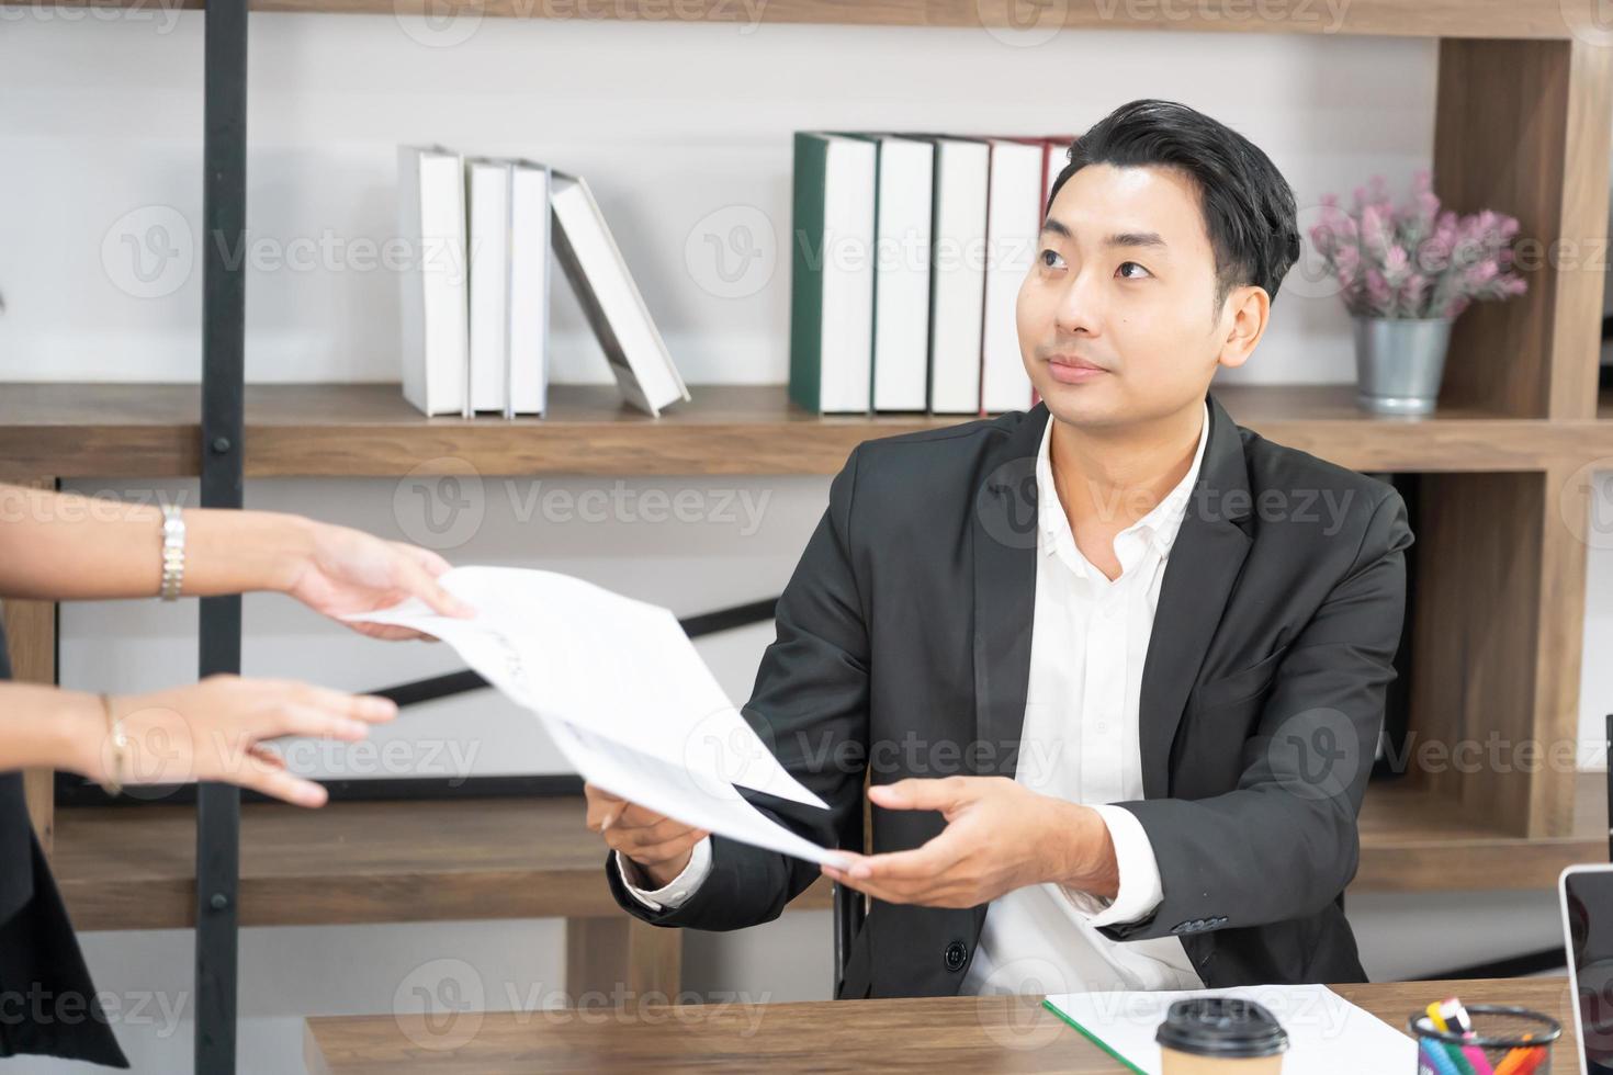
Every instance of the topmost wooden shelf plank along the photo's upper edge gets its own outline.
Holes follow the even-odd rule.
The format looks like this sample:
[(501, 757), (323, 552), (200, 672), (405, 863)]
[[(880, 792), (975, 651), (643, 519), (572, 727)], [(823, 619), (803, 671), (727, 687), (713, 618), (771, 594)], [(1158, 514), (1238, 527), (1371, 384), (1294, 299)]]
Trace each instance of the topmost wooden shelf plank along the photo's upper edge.
[[(3, 0), (37, 3), (37, 0)], [(135, 0), (90, 0), (94, 6), (135, 6)], [(1574, 24), (1595, 31), (1592, 0), (1323, 0), (1289, 3), (1165, 3), (1163, 0), (1115, 0), (1115, 3), (1055, 5), (1066, 31), (1189, 31), (1216, 34), (1366, 34), (1382, 37), (1511, 37), (1566, 39)], [(87, 6), (66, 0), (58, 6)], [(203, 0), (177, 0), (174, 6), (198, 10)], [(458, 0), (465, 18), (542, 18), (682, 21), (723, 24), (829, 24), (829, 26), (937, 26), (965, 29), (1052, 29), (1052, 16), (1026, 27), (1016, 0)], [(1584, 8), (1584, 11), (1581, 11)], [(253, 11), (423, 15), (447, 18), (448, 6), (432, 0), (252, 0)]]

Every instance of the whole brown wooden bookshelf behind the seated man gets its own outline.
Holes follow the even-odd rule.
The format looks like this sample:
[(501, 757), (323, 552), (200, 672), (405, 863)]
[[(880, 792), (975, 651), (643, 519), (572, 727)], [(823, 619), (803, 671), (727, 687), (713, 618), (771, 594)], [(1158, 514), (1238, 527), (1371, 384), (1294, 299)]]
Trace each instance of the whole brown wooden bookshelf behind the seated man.
[[(11, 2), (34, 0), (0, 0)], [(395, 18), (424, 5), (256, 0), (253, 8)], [(1074, 31), (1437, 39), (1439, 193), (1463, 213), (1516, 216), (1521, 237), (1555, 250), (1563, 240), (1600, 242), (1608, 234), (1613, 48), (1597, 31), (1594, 5), (1353, 0), (1337, 24), (1316, 5), (1279, 8), (1290, 13), (1284, 18), (1263, 18), (1242, 3), (1142, 0), (1118, 3), (1108, 18), (1103, 5), (1058, 8)], [(466, 10), (534, 18), (582, 11), (545, 0), (487, 0)], [(694, 0), (677, 5), (676, 18), (736, 23), (748, 11), (732, 0)], [(1024, 26), (1024, 15), (1016, 0), (769, 0), (760, 8), (761, 21), (777, 24), (977, 31)], [(587, 16), (666, 21), (674, 8), (619, 0), (587, 8)], [(1576, 737), (1586, 542), (1582, 521), (1568, 517), (1563, 504), (1587, 464), (1613, 458), (1613, 395), (1597, 392), (1603, 276), (1548, 263), (1531, 271), (1524, 297), (1465, 313), (1452, 334), (1440, 409), (1428, 419), (1361, 414), (1347, 385), (1219, 390), (1236, 421), (1274, 442), (1355, 469), (1424, 475), (1410, 625), (1411, 730), (1424, 740), (1500, 733), (1550, 746)], [(505, 422), (421, 417), (397, 385), (253, 387), (245, 395), (245, 474), (832, 474), (861, 440), (961, 421), (818, 417), (792, 409), (779, 387), (697, 387), (694, 395), (652, 421), (623, 409), (610, 388), (556, 388), (547, 419)], [(198, 406), (194, 385), (0, 387), (0, 479), (194, 475), (205, 450)], [(6, 609), (8, 622), (21, 614), (13, 646), (32, 654), (19, 662), (19, 679), (53, 679), (45, 659), (55, 646), (50, 612)], [(1547, 886), (1568, 862), (1607, 857), (1597, 782), (1563, 769), (1515, 767), (1419, 772), (1374, 788), (1357, 888)], [(45, 788), (48, 778), (31, 783), (31, 806), (40, 832), (55, 833), (56, 869), (82, 928), (194, 919), (189, 811), (65, 809), (53, 822)], [(634, 932), (606, 906), (598, 843), (584, 841), (581, 822), (566, 817), (576, 817), (574, 804), (340, 804), (319, 814), (248, 807), (242, 922), (552, 914), (573, 924), (571, 956), (581, 959), (594, 946), (626, 953), (640, 982), (668, 967), (676, 977), (665, 938)], [(606, 920), (618, 925), (592, 932), (590, 924)], [(615, 928), (627, 933), (610, 933)]]

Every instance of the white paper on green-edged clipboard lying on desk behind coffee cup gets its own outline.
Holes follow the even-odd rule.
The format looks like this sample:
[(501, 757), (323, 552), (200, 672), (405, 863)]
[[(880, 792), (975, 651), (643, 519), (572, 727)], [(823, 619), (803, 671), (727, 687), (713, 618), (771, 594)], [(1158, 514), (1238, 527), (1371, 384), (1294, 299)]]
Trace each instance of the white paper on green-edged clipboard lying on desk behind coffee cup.
[(1324, 985), (1255, 985), (1182, 993), (1063, 993), (1047, 1002), (1132, 1070), (1160, 1075), (1153, 1035), (1173, 1001), (1236, 996), (1257, 1001), (1289, 1033), (1284, 1072), (1361, 1075), (1415, 1072), (1416, 1043)]

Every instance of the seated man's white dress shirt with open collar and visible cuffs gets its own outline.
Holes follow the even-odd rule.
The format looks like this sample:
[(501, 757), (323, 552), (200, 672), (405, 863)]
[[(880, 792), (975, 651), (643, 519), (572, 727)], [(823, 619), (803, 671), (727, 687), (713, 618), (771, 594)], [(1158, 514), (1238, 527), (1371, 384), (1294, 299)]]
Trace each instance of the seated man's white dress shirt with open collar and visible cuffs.
[[(1084, 993), (1203, 986), (1177, 936), (1111, 941), (1098, 927), (1136, 922), (1163, 899), (1160, 869), (1142, 824), (1110, 803), (1142, 798), (1137, 712), (1142, 664), (1165, 562), (1203, 464), (1210, 406), (1182, 480), (1142, 519), (1115, 535), (1121, 574), (1111, 582), (1076, 545), (1053, 485), (1052, 416), (1036, 461), (1037, 553), (1031, 674), (1015, 780), (1040, 795), (1087, 803), (1115, 841), (1113, 901), (1057, 883), (1016, 888), (992, 901), (960, 993)], [(711, 870), (711, 840), (665, 888), (626, 888), (652, 909), (684, 903)]]

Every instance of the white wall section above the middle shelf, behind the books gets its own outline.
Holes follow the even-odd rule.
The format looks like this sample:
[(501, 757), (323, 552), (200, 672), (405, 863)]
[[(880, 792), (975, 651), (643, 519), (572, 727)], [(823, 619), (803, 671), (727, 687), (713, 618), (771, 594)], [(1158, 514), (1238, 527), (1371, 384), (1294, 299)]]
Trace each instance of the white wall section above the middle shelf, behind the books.
[[(0, 193), (31, 210), (0, 221), (0, 379), (197, 377), (198, 259), (142, 282), (127, 243), (155, 272), (153, 250), (200, 235), (202, 18), (145, 15), (0, 15)], [(353, 243), (394, 229), (395, 145), (444, 142), (589, 176), (686, 379), (766, 384), (786, 372), (787, 263), (752, 263), (760, 290), (719, 298), (705, 237), (787, 234), (797, 127), (1055, 134), (1136, 97), (1181, 98), (1265, 147), (1313, 206), (1428, 160), (1434, 45), (487, 21), (429, 48), (390, 18), (256, 15), (250, 77), (248, 264), (331, 248), (315, 256), (327, 268), (252, 272), (252, 380), (397, 379), (397, 288)], [(560, 379), (602, 379), (558, 301)], [(1336, 301), (1277, 303), (1247, 376), (1348, 380), (1344, 329)]]

